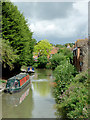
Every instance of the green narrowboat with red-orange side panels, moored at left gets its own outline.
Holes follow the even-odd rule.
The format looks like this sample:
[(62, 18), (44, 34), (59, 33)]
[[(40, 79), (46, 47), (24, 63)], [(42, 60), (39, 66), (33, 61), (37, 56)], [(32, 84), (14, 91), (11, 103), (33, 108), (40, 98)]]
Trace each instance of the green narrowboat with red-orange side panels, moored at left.
[(4, 92), (14, 93), (19, 92), (21, 89), (30, 84), (30, 77), (28, 73), (20, 73), (7, 80)]

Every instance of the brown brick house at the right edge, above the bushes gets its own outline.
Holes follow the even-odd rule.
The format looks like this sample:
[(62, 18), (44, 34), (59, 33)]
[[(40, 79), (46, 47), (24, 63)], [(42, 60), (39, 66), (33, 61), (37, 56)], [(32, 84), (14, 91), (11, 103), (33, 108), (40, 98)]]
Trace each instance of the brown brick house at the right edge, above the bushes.
[(88, 39), (78, 39), (73, 49), (73, 64), (77, 70), (85, 71), (88, 69)]

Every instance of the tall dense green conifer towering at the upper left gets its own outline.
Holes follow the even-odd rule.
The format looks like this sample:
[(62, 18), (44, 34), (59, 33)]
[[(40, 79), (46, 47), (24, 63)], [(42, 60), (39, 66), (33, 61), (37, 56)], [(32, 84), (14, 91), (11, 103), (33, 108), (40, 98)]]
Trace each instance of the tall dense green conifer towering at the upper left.
[(32, 64), (35, 39), (32, 39), (25, 17), (11, 2), (2, 3), (2, 37), (9, 41), (13, 50), (17, 50), (18, 64)]

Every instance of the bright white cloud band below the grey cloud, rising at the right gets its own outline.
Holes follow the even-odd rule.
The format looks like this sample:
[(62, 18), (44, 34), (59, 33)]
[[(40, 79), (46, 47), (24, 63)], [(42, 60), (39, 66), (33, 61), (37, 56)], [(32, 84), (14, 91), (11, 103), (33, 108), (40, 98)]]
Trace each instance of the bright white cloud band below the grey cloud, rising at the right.
[[(37, 36), (56, 36), (67, 38), (87, 35), (88, 28), (88, 3), (73, 3), (72, 11), (69, 11), (67, 18), (54, 20), (35, 20), (31, 22), (30, 28)], [(83, 35), (82, 35), (83, 34)]]

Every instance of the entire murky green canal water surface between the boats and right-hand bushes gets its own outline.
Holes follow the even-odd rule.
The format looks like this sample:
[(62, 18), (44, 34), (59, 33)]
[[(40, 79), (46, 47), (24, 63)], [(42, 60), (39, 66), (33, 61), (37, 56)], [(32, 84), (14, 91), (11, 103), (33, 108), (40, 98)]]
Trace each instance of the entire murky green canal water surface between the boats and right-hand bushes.
[(15, 94), (3, 93), (3, 118), (56, 118), (52, 71), (38, 69), (30, 77), (31, 87)]

